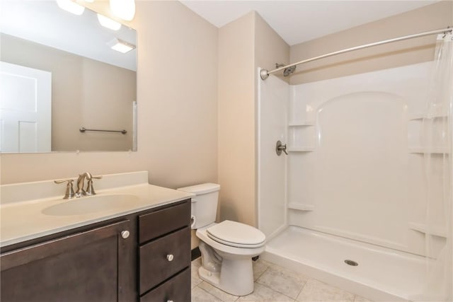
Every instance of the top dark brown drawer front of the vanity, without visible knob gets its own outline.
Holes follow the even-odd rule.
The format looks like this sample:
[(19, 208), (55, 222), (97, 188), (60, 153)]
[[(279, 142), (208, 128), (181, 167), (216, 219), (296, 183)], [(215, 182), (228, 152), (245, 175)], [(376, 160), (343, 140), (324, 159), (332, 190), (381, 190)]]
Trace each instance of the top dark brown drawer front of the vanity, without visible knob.
[(139, 216), (139, 242), (144, 243), (190, 225), (190, 199), (183, 204)]

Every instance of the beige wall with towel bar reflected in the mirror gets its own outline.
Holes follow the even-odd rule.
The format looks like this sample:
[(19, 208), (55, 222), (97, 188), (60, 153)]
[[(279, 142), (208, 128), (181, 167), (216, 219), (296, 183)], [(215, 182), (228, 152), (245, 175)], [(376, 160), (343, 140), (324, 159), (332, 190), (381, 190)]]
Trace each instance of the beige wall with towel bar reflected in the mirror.
[[(0, 60), (52, 73), (52, 151), (132, 149), (136, 73), (11, 35), (0, 35)], [(79, 132), (127, 129), (127, 134)]]

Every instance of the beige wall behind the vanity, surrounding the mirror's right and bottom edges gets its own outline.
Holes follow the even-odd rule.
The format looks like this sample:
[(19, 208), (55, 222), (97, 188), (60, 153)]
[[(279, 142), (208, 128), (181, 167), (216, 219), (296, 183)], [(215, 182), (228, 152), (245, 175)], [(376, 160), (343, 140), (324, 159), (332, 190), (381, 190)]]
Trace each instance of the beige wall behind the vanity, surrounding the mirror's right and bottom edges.
[(138, 151), (1, 154), (1, 183), (134, 170), (166, 187), (217, 182), (217, 28), (177, 1), (137, 1), (131, 25)]

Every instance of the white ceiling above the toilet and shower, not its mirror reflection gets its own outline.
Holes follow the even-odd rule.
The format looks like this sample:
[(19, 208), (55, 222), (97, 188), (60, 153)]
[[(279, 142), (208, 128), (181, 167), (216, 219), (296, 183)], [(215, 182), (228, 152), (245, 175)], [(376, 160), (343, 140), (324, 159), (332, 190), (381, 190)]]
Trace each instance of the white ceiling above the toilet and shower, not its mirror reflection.
[(180, 1), (217, 26), (257, 11), (287, 42), (295, 45), (357, 25), (411, 11), (437, 1)]

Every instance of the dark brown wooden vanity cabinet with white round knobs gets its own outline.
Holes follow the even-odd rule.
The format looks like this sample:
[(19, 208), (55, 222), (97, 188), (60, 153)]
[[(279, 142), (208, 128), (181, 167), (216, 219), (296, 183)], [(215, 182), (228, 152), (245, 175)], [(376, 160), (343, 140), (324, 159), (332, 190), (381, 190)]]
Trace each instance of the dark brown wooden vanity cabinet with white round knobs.
[(1, 249), (0, 301), (190, 301), (190, 199)]

